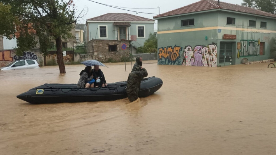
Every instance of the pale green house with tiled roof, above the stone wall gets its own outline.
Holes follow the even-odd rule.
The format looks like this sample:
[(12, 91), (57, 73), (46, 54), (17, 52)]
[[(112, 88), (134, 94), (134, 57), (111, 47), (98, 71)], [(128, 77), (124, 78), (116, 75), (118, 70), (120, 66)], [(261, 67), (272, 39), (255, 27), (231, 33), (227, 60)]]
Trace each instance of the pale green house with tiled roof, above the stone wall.
[(87, 42), (92, 39), (132, 40), (133, 47), (144, 45), (153, 33), (155, 20), (125, 13), (108, 13), (87, 19)]

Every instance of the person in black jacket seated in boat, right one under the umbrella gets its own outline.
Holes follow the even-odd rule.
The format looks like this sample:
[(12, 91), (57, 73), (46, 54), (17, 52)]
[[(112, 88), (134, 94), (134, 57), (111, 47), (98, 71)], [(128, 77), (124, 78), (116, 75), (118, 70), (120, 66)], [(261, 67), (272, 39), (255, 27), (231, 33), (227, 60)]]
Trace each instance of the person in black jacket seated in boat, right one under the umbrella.
[(94, 76), (94, 86), (95, 87), (105, 87), (107, 83), (105, 81), (105, 77), (103, 75), (102, 70), (100, 70), (99, 65), (94, 65), (94, 69), (92, 70), (92, 74)]

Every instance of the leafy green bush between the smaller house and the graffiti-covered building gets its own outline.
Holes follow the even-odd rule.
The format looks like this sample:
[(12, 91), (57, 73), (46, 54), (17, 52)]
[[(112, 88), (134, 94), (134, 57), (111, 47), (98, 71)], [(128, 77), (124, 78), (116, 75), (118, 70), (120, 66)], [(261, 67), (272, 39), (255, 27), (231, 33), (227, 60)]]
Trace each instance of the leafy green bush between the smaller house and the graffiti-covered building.
[(148, 39), (144, 42), (144, 46), (137, 48), (137, 53), (156, 53), (157, 52), (157, 37), (150, 33)]

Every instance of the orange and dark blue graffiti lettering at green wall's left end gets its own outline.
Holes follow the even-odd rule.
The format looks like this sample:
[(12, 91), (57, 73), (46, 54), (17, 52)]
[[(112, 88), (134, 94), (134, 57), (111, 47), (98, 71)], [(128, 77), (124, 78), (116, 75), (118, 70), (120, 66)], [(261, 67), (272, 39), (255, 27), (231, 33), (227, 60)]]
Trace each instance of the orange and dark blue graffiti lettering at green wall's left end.
[(180, 46), (168, 46), (158, 49), (158, 64), (160, 65), (181, 65), (180, 52), (182, 47)]

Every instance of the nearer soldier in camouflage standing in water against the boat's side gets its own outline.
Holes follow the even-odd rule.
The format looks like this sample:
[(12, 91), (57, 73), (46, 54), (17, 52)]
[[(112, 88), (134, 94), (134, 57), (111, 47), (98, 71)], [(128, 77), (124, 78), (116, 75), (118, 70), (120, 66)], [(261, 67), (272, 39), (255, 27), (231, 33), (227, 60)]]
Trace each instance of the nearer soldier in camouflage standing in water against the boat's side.
[(135, 70), (128, 75), (128, 87), (126, 93), (128, 94), (129, 101), (137, 100), (140, 90), (141, 79), (148, 76), (145, 68), (137, 65)]

